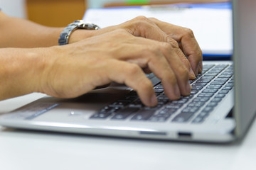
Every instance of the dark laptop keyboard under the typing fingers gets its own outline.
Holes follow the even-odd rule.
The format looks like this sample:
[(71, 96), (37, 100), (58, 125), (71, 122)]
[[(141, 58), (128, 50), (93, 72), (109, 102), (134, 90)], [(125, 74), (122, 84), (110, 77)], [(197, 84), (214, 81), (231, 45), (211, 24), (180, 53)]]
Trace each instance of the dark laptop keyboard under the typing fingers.
[(178, 101), (170, 101), (164, 88), (154, 74), (146, 75), (154, 84), (158, 105), (144, 106), (136, 91), (119, 98), (90, 119), (130, 120), (174, 123), (203, 123), (215, 106), (233, 89), (233, 65), (207, 64), (196, 79), (190, 80), (190, 96), (182, 96)]

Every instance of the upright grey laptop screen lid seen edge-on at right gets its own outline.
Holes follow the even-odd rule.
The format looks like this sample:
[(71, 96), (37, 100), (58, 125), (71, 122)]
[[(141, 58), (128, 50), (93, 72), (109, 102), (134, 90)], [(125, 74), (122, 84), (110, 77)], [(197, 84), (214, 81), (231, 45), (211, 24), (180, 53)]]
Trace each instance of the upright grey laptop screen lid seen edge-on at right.
[(236, 134), (242, 136), (256, 111), (256, 1), (234, 0)]

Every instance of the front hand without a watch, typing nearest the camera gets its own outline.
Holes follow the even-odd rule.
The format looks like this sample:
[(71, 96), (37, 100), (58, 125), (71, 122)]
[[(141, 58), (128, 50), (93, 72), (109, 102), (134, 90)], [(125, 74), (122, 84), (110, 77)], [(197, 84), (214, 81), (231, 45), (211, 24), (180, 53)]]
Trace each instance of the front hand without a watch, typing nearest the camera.
[(50, 96), (73, 98), (115, 81), (137, 91), (146, 106), (155, 106), (154, 89), (143, 69), (161, 79), (171, 100), (191, 91), (189, 72), (177, 55), (176, 46), (164, 40), (136, 37), (125, 29), (50, 47), (45, 54), (46, 67), (39, 86)]

